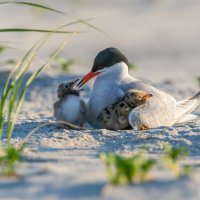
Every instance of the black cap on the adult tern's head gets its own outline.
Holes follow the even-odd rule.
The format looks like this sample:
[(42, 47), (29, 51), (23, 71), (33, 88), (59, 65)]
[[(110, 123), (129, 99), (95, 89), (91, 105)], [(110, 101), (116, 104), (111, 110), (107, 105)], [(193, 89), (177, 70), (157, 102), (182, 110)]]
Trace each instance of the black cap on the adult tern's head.
[(116, 63), (124, 62), (128, 65), (128, 59), (119, 49), (110, 47), (99, 52), (94, 59), (92, 72), (96, 72), (105, 67), (110, 67)]

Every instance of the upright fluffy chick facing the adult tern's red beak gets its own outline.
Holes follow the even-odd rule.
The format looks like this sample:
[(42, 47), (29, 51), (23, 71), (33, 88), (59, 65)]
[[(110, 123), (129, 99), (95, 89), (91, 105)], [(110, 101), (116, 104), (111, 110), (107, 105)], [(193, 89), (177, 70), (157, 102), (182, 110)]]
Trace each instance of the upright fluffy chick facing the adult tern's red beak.
[(75, 81), (61, 83), (58, 86), (58, 101), (54, 103), (54, 116), (58, 121), (66, 121), (83, 126), (86, 120), (86, 105), (80, 98), (82, 89), (76, 89)]

